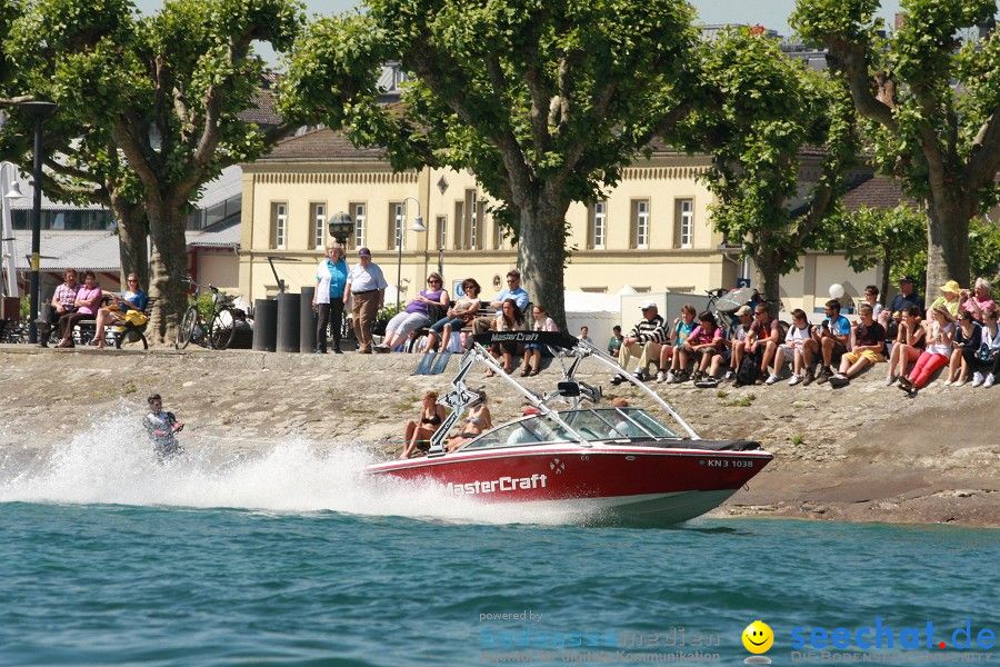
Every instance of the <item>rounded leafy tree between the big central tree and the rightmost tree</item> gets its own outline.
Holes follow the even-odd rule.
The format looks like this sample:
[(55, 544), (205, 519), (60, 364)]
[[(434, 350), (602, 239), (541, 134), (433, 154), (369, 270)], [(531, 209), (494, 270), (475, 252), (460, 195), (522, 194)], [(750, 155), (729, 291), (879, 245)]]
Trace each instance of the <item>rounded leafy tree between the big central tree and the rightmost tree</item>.
[[(711, 152), (706, 180), (718, 198), (714, 227), (742, 242), (761, 291), (777, 299), (780, 276), (814, 247), (827, 215), (838, 210), (857, 153), (850, 99), (824, 74), (786, 58), (777, 40), (747, 28), (706, 42), (701, 62), (701, 103), (677, 140)], [(821, 176), (811, 186), (802, 178), (807, 147), (822, 149)], [(796, 206), (803, 193), (808, 205)]]

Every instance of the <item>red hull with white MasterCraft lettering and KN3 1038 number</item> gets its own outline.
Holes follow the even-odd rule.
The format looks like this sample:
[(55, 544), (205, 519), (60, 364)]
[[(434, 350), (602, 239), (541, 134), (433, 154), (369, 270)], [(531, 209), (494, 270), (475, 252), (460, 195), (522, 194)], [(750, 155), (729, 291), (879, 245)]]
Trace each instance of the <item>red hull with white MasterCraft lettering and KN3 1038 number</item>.
[(553, 445), (368, 468), (446, 496), (557, 509), (574, 522), (670, 525), (718, 507), (771, 460), (761, 450)]

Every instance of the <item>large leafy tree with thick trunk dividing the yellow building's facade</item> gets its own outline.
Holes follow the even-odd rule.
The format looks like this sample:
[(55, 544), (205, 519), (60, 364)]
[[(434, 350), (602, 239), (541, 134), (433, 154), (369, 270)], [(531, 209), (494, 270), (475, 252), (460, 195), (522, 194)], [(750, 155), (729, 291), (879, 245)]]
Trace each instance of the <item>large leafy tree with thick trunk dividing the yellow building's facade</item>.
[[(688, 109), (694, 32), (679, 0), (370, 0), (294, 50), (283, 112), (386, 146), (397, 169), (470, 169), (501, 202), (536, 302), (563, 320), (566, 212)], [(414, 81), (376, 102), (377, 64)], [(344, 99), (347, 101), (344, 101)]]

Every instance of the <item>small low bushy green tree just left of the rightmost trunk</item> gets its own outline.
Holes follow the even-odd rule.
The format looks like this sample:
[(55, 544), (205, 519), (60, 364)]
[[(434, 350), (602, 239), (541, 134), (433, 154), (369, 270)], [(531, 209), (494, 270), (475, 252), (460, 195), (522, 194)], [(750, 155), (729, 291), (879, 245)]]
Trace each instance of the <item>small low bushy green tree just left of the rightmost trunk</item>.
[[(882, 266), (882, 295), (889, 293), (890, 278), (913, 276), (912, 259), (927, 261), (927, 215), (901, 203), (893, 209), (862, 207), (834, 216), (826, 227), (822, 247), (843, 250), (854, 271)], [(922, 278), (926, 265), (919, 267)]]

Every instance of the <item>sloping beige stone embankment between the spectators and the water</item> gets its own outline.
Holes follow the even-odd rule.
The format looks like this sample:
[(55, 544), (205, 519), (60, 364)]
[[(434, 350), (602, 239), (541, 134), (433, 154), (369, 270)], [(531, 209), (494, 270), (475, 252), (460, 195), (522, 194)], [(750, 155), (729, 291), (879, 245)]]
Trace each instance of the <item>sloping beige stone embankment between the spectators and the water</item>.
[[(418, 360), (0, 345), (0, 454), (43, 457), (72, 435), (53, 414), (80, 405), (114, 411), (123, 402), (140, 411), (153, 392), (198, 432), (236, 450), (292, 436), (319, 446), (398, 441), (420, 395), (447, 390), (458, 368), (456, 356), (444, 375), (412, 376)], [(579, 377), (603, 385), (606, 399), (641, 405), (638, 389), (612, 387), (596, 364), (586, 366)], [(496, 422), (520, 412), (521, 398), (506, 382), (473, 374), (470, 385), (487, 388)], [(557, 377), (558, 366), (524, 384), (548, 390)], [(909, 399), (884, 386), (884, 366), (841, 389), (651, 386), (703, 437), (756, 439), (776, 455), (716, 516), (1000, 527), (1000, 388), (934, 381)], [(380, 446), (387, 458), (401, 447)]]

